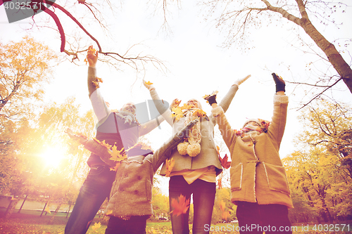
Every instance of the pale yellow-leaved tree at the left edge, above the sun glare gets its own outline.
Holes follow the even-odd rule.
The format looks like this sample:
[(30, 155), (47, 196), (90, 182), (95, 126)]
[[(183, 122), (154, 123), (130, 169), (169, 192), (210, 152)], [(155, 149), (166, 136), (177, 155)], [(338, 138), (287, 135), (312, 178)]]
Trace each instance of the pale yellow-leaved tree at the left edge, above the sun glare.
[[(30, 117), (32, 103), (42, 100), (43, 84), (50, 82), (57, 56), (30, 37), (0, 42), (0, 121)], [(2, 126), (1, 126), (2, 127)]]

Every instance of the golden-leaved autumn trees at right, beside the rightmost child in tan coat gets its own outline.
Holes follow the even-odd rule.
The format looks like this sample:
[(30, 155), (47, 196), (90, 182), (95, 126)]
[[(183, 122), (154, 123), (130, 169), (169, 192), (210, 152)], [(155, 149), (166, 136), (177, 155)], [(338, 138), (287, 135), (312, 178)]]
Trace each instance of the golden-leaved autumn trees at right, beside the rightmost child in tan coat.
[[(351, 219), (351, 107), (320, 100), (301, 113), (298, 150), (283, 159), (295, 208), (292, 219)], [(303, 214), (303, 215), (299, 215)]]

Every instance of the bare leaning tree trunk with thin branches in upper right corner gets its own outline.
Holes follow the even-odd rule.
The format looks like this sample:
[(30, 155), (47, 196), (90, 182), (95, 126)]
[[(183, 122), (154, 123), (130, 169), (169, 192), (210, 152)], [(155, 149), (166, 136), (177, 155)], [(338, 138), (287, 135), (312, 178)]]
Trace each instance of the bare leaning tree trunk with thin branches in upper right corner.
[[(175, 1), (163, 0), (159, 2), (163, 2), (164, 19), (167, 21), (167, 6), (175, 4)], [(180, 5), (181, 1), (176, 2), (177, 5)], [(262, 25), (284, 25), (284, 22), (288, 20), (292, 25), (290, 32), (297, 32), (297, 38), (303, 41), (303, 46), (308, 46), (309, 53), (313, 51), (319, 58), (327, 62), (324, 64), (326, 68), (318, 69), (318, 72), (321, 72), (318, 77), (313, 79), (309, 77), (312, 82), (293, 81), (292, 83), (317, 89), (318, 91), (313, 93), (311, 100), (321, 96), (322, 93), (331, 89), (340, 81), (343, 81), (352, 93), (352, 70), (350, 63), (342, 56), (344, 51), (337, 50), (338, 41), (328, 41), (326, 39), (327, 35), (324, 36), (317, 30), (319, 24), (323, 26), (329, 23), (337, 25), (334, 20), (334, 13), (338, 11), (346, 13), (345, 9), (348, 7), (348, 1), (201, 0), (198, 4), (201, 6), (202, 14), (205, 15), (205, 20), (213, 20), (215, 22), (213, 25), (225, 35), (224, 46), (227, 48), (234, 44), (246, 46), (249, 41), (252, 41), (249, 35), (251, 35), (253, 29), (258, 29)], [(164, 25), (167, 25), (167, 23), (164, 22)], [(304, 31), (303, 34), (299, 33), (300, 29)], [(277, 35), (279, 35), (279, 30)], [(306, 38), (306, 36), (309, 38)], [(347, 38), (345, 41), (343, 44), (349, 44), (352, 39)], [(310, 44), (314, 44), (314, 46)], [(300, 45), (299, 48), (301, 49), (303, 46)], [(315, 46), (318, 46), (318, 51), (322, 53), (316, 52)], [(348, 56), (349, 52), (347, 51), (346, 54)], [(331, 66), (334, 67), (334, 71), (331, 71), (332, 74), (327, 74)]]

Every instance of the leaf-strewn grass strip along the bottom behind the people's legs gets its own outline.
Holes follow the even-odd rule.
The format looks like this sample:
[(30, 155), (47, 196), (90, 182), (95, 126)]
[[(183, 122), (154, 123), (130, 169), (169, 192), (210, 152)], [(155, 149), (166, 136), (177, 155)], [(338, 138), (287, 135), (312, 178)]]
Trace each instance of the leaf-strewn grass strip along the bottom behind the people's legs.
[[(0, 233), (1, 234), (60, 234), (64, 233), (65, 224), (68, 221), (66, 219), (66, 214), (58, 213), (54, 219), (52, 224), (49, 224), (50, 219), (52, 218), (52, 214), (46, 214), (40, 217), (42, 212), (36, 211), (26, 211), (23, 210), (20, 214), (17, 213), (17, 210), (13, 212), (12, 216), (9, 219), (4, 219), (4, 210), (0, 209)], [(106, 221), (108, 219), (101, 219), (99, 216), (96, 216), (91, 227), (89, 228), (87, 234), (103, 234), (106, 229)], [(101, 223), (99, 228), (94, 230), (94, 224)], [(97, 227), (97, 225), (95, 224)], [(212, 234), (222, 234), (222, 233), (238, 233), (236, 229), (238, 226), (237, 223), (218, 223), (216, 225), (211, 225), (210, 233)], [(306, 230), (308, 227), (308, 230)], [(310, 224), (307, 226), (306, 224), (296, 226), (294, 229), (294, 233), (306, 233), (306, 234), (318, 234), (318, 233), (341, 233), (347, 234), (351, 233), (352, 223), (350, 223), (350, 231), (348, 232), (346, 229), (344, 232), (335, 231), (334, 228), (339, 228), (341, 230), (342, 226), (337, 225), (332, 226), (332, 224), (328, 226), (320, 225), (320, 231), (318, 230), (318, 225), (315, 226), (316, 230), (313, 230), (314, 224)], [(324, 230), (328, 228), (327, 231)], [(345, 227), (346, 228), (346, 227)], [(191, 224), (189, 225), (189, 229), (191, 230)], [(231, 230), (231, 231), (230, 231)], [(234, 231), (232, 231), (234, 230)], [(146, 233), (148, 234), (172, 234), (171, 222), (170, 221), (148, 221), (146, 223)]]

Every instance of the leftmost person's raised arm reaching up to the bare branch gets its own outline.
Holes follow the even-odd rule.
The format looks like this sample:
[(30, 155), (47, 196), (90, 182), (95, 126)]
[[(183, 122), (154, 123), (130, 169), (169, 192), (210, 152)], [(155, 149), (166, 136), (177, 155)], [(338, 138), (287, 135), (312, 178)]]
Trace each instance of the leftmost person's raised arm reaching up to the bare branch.
[(89, 63), (88, 67), (88, 92), (89, 98), (92, 102), (92, 107), (94, 110), (94, 114), (98, 118), (98, 121), (108, 116), (110, 110), (101, 96), (99, 90), (99, 82), (96, 77), (96, 62), (98, 61), (98, 51), (94, 52), (93, 46), (89, 46), (87, 52), (87, 60)]

